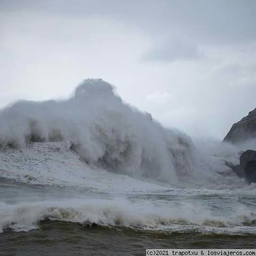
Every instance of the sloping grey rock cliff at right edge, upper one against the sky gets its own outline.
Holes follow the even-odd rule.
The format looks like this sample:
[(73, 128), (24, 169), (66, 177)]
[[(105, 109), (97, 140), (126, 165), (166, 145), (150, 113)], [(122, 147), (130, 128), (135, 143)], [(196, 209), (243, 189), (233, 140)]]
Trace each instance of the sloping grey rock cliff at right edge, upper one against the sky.
[(239, 144), (253, 138), (256, 139), (256, 108), (233, 124), (223, 141)]

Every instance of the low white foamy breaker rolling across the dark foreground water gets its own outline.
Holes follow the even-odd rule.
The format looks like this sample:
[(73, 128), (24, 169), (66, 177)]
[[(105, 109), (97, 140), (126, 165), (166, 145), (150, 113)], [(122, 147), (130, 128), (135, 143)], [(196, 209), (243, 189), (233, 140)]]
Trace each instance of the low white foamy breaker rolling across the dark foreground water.
[[(11, 228), (26, 231), (37, 228), (45, 219), (77, 222), (82, 225), (130, 227), (135, 229), (198, 230), (235, 233), (238, 229), (255, 232), (251, 223), (256, 215), (238, 205), (229, 216), (218, 216), (202, 205), (188, 202), (76, 199), (58, 202), (2, 205), (0, 231)], [(175, 206), (175, 207), (174, 207)], [(213, 230), (214, 229), (214, 230)]]

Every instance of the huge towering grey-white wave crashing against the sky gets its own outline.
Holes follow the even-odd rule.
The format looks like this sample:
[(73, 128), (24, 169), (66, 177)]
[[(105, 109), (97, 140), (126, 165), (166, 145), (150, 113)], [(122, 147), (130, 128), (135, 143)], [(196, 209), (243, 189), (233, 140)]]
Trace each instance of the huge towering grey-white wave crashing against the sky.
[(66, 100), (20, 101), (0, 112), (2, 148), (49, 141), (65, 142), (89, 165), (169, 183), (234, 183), (225, 161), (238, 159), (227, 145), (196, 149), (185, 133), (123, 102), (102, 79), (86, 79)]

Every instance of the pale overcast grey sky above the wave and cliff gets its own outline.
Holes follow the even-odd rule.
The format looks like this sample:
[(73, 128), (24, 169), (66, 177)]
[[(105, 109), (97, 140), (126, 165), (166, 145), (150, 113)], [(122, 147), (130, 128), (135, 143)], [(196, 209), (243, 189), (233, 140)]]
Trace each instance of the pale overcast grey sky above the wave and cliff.
[(191, 136), (256, 107), (256, 1), (0, 0), (0, 108), (85, 78)]

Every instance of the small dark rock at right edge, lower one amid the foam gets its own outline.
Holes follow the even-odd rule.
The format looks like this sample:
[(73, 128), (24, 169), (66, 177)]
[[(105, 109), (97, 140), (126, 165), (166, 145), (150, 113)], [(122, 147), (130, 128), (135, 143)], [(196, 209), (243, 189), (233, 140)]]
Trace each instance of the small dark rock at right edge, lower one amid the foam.
[(245, 180), (250, 183), (256, 183), (256, 151), (246, 150), (240, 157), (240, 163), (236, 166), (230, 166), (231, 169), (240, 178), (245, 178)]

